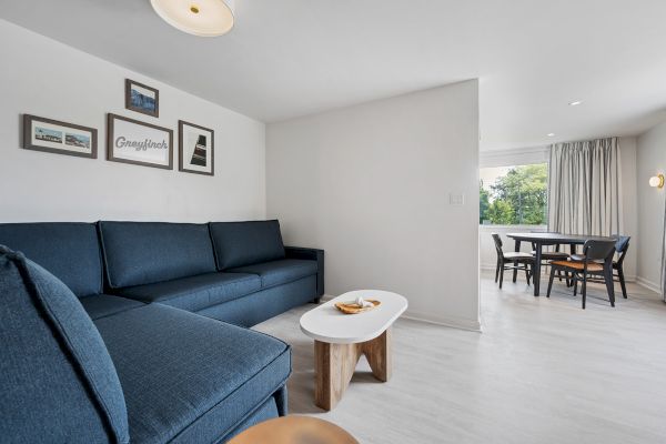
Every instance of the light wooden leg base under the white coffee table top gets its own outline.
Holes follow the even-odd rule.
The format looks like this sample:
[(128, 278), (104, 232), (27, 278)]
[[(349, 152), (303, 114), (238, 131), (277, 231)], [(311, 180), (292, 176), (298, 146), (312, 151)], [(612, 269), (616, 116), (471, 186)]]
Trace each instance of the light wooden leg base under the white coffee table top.
[(314, 341), (314, 403), (323, 410), (333, 410), (342, 400), (356, 370), (361, 355), (365, 355), (372, 374), (380, 381), (391, 379), (391, 327), (367, 342), (331, 344)]

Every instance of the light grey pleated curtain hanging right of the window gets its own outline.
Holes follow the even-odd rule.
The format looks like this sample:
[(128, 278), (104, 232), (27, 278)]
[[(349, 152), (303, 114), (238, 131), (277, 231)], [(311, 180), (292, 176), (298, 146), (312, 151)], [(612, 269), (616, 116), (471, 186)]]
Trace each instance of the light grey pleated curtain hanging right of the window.
[(620, 193), (617, 138), (551, 147), (548, 230), (588, 235), (622, 233)]

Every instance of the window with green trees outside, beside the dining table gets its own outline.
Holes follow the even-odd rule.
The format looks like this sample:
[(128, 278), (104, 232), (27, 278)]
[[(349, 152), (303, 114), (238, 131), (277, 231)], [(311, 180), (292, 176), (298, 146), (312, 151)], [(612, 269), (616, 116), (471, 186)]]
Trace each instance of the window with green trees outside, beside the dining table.
[(545, 225), (548, 164), (482, 168), (478, 189), (480, 223)]

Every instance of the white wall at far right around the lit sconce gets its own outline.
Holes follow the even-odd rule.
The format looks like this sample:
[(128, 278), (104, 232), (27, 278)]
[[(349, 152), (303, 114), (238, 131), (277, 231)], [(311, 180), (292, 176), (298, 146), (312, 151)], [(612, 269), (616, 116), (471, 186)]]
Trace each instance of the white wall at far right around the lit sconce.
[(666, 122), (638, 138), (636, 189), (638, 192), (638, 282), (659, 291), (664, 202), (666, 189), (648, 185), (650, 176), (666, 174)]

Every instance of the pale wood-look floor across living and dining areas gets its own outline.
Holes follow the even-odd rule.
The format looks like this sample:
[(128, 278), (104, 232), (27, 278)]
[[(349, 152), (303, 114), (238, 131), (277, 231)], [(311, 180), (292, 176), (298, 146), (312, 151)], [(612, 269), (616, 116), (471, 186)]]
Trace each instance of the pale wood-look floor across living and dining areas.
[(313, 342), (299, 329), (313, 305), (256, 330), (293, 346), (290, 413), (361, 443), (666, 443), (666, 304), (634, 284), (615, 309), (603, 297), (595, 286), (583, 311), (564, 285), (548, 300), (484, 273), (483, 333), (400, 320), (393, 379), (376, 382), (362, 359), (331, 413), (313, 404)]

